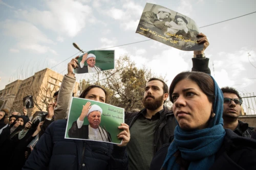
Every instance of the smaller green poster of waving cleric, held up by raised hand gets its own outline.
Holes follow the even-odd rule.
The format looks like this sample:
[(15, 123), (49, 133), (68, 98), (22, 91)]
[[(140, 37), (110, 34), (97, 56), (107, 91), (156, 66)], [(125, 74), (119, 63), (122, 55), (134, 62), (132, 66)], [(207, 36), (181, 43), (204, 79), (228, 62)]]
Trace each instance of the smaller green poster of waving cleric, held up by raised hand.
[(102, 70), (114, 69), (114, 50), (93, 50), (82, 54), (78, 60), (78, 68), (74, 69), (75, 74), (88, 72), (99, 72)]

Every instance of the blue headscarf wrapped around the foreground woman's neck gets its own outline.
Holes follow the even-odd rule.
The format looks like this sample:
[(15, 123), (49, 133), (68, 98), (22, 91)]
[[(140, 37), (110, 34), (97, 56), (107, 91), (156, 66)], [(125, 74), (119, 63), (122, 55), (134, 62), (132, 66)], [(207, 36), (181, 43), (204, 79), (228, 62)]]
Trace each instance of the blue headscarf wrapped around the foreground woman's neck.
[[(212, 77), (211, 77), (212, 78)], [(223, 128), (223, 93), (218, 84), (214, 81), (215, 102), (213, 105), (215, 117), (211, 118), (208, 128), (202, 130), (182, 130), (179, 124), (174, 131), (174, 141), (168, 148), (161, 169), (180, 169), (174, 154), (179, 150), (181, 157), (190, 161), (190, 169), (209, 169), (215, 162), (215, 154), (220, 149), (225, 137)]]

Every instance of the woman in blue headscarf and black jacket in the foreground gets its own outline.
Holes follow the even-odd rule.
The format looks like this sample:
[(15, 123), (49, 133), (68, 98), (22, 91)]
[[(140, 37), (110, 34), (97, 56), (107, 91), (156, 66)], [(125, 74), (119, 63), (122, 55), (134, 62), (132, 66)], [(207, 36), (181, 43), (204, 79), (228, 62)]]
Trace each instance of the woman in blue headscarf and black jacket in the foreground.
[(169, 88), (178, 125), (150, 169), (256, 169), (256, 140), (223, 129), (223, 94), (210, 75), (181, 72)]

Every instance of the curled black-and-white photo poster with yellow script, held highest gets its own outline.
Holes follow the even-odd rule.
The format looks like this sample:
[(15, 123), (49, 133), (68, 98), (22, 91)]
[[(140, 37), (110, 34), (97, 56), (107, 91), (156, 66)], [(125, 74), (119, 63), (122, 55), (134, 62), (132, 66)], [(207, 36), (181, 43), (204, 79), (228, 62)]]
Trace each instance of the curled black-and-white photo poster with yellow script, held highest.
[(176, 11), (146, 3), (136, 33), (183, 51), (201, 51), (196, 22)]

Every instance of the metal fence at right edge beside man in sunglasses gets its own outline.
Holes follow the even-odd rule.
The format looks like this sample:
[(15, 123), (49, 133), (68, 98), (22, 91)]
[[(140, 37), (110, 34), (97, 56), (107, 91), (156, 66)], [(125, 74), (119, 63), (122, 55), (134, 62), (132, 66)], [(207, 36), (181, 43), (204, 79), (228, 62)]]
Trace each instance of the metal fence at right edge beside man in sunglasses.
[(256, 115), (256, 95), (253, 93), (243, 93), (242, 115)]

